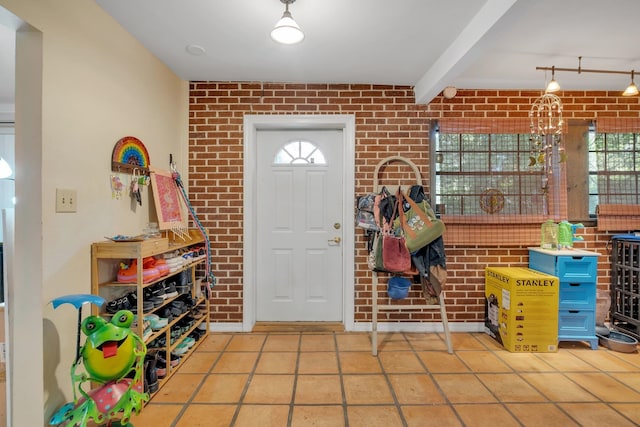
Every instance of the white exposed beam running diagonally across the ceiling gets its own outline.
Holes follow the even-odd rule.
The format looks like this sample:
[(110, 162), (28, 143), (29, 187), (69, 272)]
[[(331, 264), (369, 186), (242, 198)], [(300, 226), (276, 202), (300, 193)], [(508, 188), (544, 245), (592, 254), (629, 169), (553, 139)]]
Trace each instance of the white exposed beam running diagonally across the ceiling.
[[(414, 86), (417, 104), (428, 104), (483, 51), (481, 40), (518, 0), (487, 0), (469, 25)], [(522, 1), (522, 0), (520, 0)]]

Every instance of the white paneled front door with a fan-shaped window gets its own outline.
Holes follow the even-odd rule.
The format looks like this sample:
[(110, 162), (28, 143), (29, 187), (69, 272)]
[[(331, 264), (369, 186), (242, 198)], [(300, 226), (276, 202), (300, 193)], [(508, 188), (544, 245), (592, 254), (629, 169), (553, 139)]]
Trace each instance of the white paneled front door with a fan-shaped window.
[(258, 321), (342, 320), (342, 133), (257, 133)]

